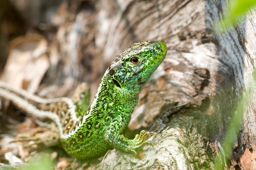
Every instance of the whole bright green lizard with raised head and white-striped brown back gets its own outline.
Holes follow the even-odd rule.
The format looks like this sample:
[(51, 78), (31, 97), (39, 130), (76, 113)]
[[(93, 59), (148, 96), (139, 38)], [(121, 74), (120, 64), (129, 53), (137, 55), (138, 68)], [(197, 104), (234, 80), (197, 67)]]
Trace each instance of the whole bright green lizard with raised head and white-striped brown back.
[(146, 141), (151, 133), (141, 131), (134, 139), (128, 139), (121, 133), (130, 121), (140, 91), (164, 60), (166, 51), (166, 45), (161, 41), (142, 41), (117, 55), (103, 75), (86, 112), (87, 106), (81, 106), (83, 102), (74, 103), (69, 98), (42, 99), (2, 82), (0, 97), (11, 100), (35, 119), (55, 122), (61, 145), (71, 157), (95, 157), (110, 147), (137, 154), (138, 149), (151, 145)]

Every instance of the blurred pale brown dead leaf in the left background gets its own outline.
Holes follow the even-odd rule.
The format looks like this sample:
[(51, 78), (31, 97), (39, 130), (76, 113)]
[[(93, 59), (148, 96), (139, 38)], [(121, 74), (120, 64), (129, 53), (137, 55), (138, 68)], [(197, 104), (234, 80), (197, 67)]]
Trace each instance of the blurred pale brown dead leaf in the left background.
[(1, 81), (35, 92), (49, 68), (47, 40), (39, 34), (20, 36), (9, 44)]

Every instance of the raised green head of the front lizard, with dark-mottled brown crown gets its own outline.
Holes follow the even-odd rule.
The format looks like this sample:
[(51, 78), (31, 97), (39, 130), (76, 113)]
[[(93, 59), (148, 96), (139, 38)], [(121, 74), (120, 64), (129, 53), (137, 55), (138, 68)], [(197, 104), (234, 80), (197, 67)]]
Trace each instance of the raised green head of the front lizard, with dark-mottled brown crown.
[(164, 60), (166, 52), (162, 41), (134, 43), (112, 61), (110, 80), (119, 91), (138, 96), (150, 75)]

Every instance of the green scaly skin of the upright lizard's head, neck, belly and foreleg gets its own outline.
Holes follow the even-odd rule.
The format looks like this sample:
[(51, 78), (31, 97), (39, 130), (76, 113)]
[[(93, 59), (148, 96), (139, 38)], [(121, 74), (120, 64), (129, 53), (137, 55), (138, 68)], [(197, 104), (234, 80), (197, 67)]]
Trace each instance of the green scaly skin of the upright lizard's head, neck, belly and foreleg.
[[(110, 147), (137, 154), (149, 142), (142, 131), (130, 140), (121, 136), (128, 125), (138, 95), (150, 75), (162, 63), (166, 45), (161, 41), (134, 43), (117, 55), (105, 72), (89, 111), (74, 135), (61, 139), (68, 154), (81, 159), (98, 156)], [(131, 62), (138, 57), (138, 63)]]

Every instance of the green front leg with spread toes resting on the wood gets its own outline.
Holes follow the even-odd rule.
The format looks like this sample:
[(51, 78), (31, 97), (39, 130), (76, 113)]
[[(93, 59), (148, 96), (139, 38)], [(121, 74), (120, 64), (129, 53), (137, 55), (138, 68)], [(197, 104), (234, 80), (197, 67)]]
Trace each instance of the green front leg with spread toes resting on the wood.
[(146, 138), (149, 135), (154, 135), (149, 131), (141, 131), (140, 134), (137, 134), (134, 139), (128, 139), (121, 135), (124, 128), (127, 126), (124, 122), (124, 119), (127, 117), (122, 117), (119, 115), (114, 119), (104, 133), (104, 140), (113, 148), (134, 153), (137, 155), (137, 150), (143, 148), (145, 145), (153, 146), (149, 141), (146, 141)]

